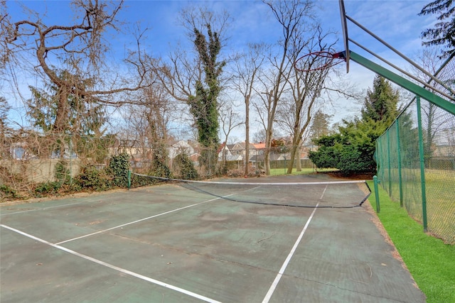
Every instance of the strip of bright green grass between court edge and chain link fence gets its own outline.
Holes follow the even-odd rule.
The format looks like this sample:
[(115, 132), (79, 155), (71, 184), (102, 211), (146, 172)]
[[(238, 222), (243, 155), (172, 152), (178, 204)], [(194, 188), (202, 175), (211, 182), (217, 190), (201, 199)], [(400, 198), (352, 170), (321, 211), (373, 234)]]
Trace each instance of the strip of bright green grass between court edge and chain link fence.
[[(370, 201), (375, 205), (373, 181)], [(455, 246), (427, 235), (423, 227), (379, 188), (378, 217), (429, 303), (455, 302)]]

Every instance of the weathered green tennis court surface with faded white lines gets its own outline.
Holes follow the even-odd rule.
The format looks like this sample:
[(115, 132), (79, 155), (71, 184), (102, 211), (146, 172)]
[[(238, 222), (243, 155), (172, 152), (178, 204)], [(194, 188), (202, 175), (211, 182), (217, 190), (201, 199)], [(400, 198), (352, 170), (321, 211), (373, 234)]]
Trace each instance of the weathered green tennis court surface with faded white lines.
[(272, 184), (314, 181), (1, 204), (0, 301), (425, 302), (360, 183)]

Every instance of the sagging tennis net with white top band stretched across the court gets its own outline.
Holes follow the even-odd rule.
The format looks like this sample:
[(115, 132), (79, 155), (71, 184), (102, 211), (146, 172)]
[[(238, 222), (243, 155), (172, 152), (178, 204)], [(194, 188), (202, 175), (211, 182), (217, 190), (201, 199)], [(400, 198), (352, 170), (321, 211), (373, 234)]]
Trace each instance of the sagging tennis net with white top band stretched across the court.
[(220, 182), (181, 180), (134, 174), (151, 183), (173, 183), (211, 197), (252, 204), (308, 208), (354, 208), (370, 196), (362, 180), (334, 182)]

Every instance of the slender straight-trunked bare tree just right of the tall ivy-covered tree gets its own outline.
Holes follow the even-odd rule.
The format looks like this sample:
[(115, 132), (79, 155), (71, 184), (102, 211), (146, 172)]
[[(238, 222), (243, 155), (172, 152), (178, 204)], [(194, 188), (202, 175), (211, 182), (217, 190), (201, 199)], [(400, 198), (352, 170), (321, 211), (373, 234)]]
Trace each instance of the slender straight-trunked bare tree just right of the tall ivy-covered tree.
[[(267, 45), (251, 44), (246, 53), (234, 60), (232, 67), (232, 86), (239, 92), (245, 101), (245, 155), (250, 155), (250, 100), (255, 93), (255, 84), (259, 70), (265, 60), (264, 52)], [(248, 161), (248, 160), (247, 160)], [(245, 176), (249, 174), (249, 166), (245, 165)]]

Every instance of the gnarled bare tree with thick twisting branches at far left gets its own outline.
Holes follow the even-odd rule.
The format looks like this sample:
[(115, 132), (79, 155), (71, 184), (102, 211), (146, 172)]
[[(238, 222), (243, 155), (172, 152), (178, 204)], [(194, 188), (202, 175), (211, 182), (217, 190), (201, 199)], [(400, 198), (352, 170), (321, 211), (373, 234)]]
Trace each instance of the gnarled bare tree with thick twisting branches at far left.
[[(146, 69), (140, 47), (143, 32), (136, 36), (137, 48), (125, 58), (134, 71), (129, 79), (109, 68), (112, 60), (105, 57), (110, 48), (105, 35), (119, 32), (122, 23), (117, 14), (122, 6), (123, 1), (74, 0), (71, 7), (76, 21), (69, 26), (46, 25), (33, 12), (28, 19), (19, 21), (12, 21), (10, 16), (1, 18), (4, 70), (12, 79), (18, 70), (28, 70), (55, 87), (55, 133), (68, 128), (70, 99), (118, 105), (115, 99), (118, 94), (144, 87)], [(56, 63), (60, 67), (56, 68)], [(59, 71), (66, 76), (61, 77)]]

